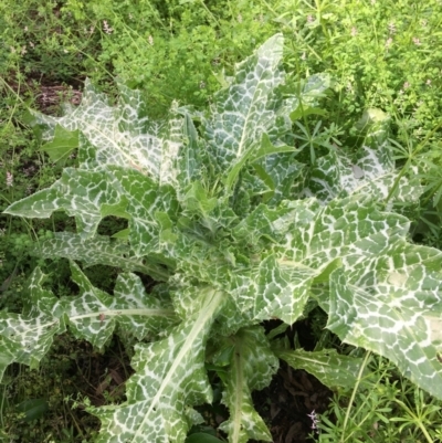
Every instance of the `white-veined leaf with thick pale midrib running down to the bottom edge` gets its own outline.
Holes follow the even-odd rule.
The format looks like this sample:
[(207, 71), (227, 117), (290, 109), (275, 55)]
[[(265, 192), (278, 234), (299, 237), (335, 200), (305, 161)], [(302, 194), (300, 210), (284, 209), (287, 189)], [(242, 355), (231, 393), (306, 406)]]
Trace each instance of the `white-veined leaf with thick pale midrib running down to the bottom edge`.
[(186, 440), (198, 415), (190, 405), (211, 402), (204, 370), (206, 341), (223, 294), (196, 291), (196, 314), (169, 329), (167, 338), (136, 346), (127, 402), (90, 408), (102, 421), (96, 443), (152, 443)]

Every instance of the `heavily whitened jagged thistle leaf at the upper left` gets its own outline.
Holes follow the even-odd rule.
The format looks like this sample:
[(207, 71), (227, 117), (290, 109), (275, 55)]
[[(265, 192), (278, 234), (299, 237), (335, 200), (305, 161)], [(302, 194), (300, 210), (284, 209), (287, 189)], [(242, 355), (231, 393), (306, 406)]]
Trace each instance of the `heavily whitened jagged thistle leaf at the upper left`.
[(182, 117), (172, 109), (168, 122), (150, 122), (140, 93), (122, 84), (118, 86), (119, 103), (114, 107), (86, 80), (78, 107), (67, 106), (69, 112), (63, 117), (33, 113), (34, 124), (45, 128), (44, 139), (53, 137), (56, 125), (80, 130), (84, 135), (80, 137), (81, 168), (114, 165), (137, 169), (164, 184), (173, 183), (175, 160), (182, 141)]

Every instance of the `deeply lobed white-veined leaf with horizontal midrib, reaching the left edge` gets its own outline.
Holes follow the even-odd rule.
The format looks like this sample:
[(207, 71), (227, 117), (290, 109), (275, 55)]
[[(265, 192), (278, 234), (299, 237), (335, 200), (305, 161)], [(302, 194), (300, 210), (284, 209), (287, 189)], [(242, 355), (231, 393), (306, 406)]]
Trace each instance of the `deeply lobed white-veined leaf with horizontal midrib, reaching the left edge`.
[(49, 351), (53, 337), (64, 333), (66, 325), (77, 338), (101, 348), (117, 325), (141, 339), (178, 321), (170, 299), (146, 295), (139, 277), (134, 274), (120, 275), (110, 297), (93, 287), (75, 263), (71, 263), (71, 268), (81, 289), (78, 297), (56, 298), (42, 287), (45, 276), (35, 268), (29, 281), (23, 313), (0, 313), (0, 375), (4, 363), (36, 367)]

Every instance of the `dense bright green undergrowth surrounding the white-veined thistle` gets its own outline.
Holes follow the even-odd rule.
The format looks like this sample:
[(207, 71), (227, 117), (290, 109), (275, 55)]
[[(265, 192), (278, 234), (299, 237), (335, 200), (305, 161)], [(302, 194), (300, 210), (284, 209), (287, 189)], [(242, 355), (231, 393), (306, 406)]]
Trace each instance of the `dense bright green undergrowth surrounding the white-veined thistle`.
[[(324, 173), (322, 171), (335, 161), (340, 162), (337, 176), (350, 177), (350, 181), (368, 178), (360, 177), (366, 172), (364, 162), (358, 162), (358, 149), (365, 143), (367, 131), (372, 129), (372, 124), (382, 122), (381, 126), (386, 125), (385, 136), (389, 138), (390, 155), (393, 152), (401, 176), (397, 177), (397, 181), (390, 181), (391, 196), (387, 193), (383, 197), (391, 201), (390, 198), (399, 189), (404, 196), (413, 198), (412, 205), (407, 204), (407, 199), (397, 199), (389, 210), (411, 219), (413, 223), (408, 233), (409, 240), (441, 247), (439, 73), (442, 64), (438, 27), (442, 18), (436, 1), (422, 4), (411, 1), (348, 1), (345, 2), (345, 8), (341, 2), (328, 1), (315, 4), (293, 1), (277, 1), (272, 4), (265, 1), (148, 1), (137, 6), (113, 1), (65, 1), (41, 6), (40, 2), (27, 1), (14, 8), (3, 8), (0, 18), (0, 57), (4, 62), (0, 63), (0, 180), (6, 184), (0, 191), (2, 210), (27, 194), (48, 188), (61, 176), (63, 166), (77, 167), (84, 161), (77, 158), (72, 140), (65, 143), (61, 149), (62, 160), (57, 159), (60, 150), (57, 151), (56, 144), (38, 150), (46, 141), (44, 134), (43, 138), (41, 133), (35, 137), (27, 126), (30, 122), (25, 114), (28, 107), (40, 107), (45, 114), (61, 115), (59, 103), (63, 102), (56, 98), (59, 92), (52, 96), (52, 101), (45, 98), (42, 84), (71, 85), (73, 92), (67, 87), (63, 93), (64, 97), (70, 98), (70, 94), (72, 96), (76, 91), (83, 89), (81, 85), (87, 75), (101, 91), (109, 93), (110, 104), (115, 104), (118, 93), (114, 80), (119, 77), (130, 88), (141, 89), (143, 102), (147, 103), (144, 113), (150, 118), (164, 118), (173, 101), (178, 102), (173, 106), (186, 104), (202, 110), (214, 106), (215, 92), (230, 84), (236, 62), (245, 59), (275, 32), (283, 32), (285, 45), (282, 62), (287, 73), (285, 86), (281, 89), (283, 96), (299, 97), (304, 94), (305, 80), (312, 74), (327, 73), (328, 77), (320, 78), (323, 82), (330, 80), (329, 83), (324, 83), (324, 91), (319, 96), (315, 95), (313, 87), (311, 102), (307, 94), (306, 105), (297, 110), (293, 109), (292, 146), (298, 149), (297, 161), (306, 165), (308, 170), (306, 177), (299, 172), (296, 180), (308, 178), (314, 183), (320, 183)], [(372, 110), (373, 108), (382, 109), (383, 113)], [(197, 130), (201, 130), (202, 115), (191, 108), (187, 108), (187, 113), (197, 125)], [(386, 119), (386, 114), (389, 120)], [(60, 137), (57, 143), (61, 143)], [(341, 158), (345, 159), (344, 162)], [(130, 161), (138, 165), (135, 160)], [(392, 165), (392, 159), (389, 161)], [(255, 204), (257, 196), (261, 196), (265, 204), (275, 204), (277, 197), (269, 188), (274, 177), (271, 181), (263, 179), (265, 176), (255, 167), (252, 172), (260, 177), (262, 188), (260, 192), (252, 192), (252, 201), (246, 204)], [(418, 173), (415, 177), (422, 187), (413, 188), (417, 183), (411, 188), (404, 186), (403, 180), (410, 172)], [(232, 172), (228, 182), (235, 182), (235, 173)], [(239, 175), (242, 187), (248, 182), (250, 173), (251, 170), (246, 169)], [(291, 177), (296, 173), (292, 170)], [(334, 180), (337, 176), (334, 176)], [(221, 176), (219, 179), (221, 180)], [(330, 193), (328, 188), (332, 183), (323, 184), (327, 191), (320, 191), (320, 199), (328, 201), (338, 190)], [(203, 189), (207, 186), (208, 182), (202, 182)], [(317, 184), (316, 188), (305, 188), (311, 193), (304, 193), (303, 198), (317, 194)], [(296, 187), (292, 189), (295, 192), (292, 196), (298, 190)], [(200, 198), (202, 191), (201, 188), (193, 187), (192, 192)], [(241, 192), (239, 196), (243, 199)], [(187, 201), (191, 201), (190, 197), (188, 196)], [(193, 215), (200, 210), (208, 211), (212, 208), (209, 197), (202, 209), (194, 202), (189, 203)], [(219, 198), (217, 193), (215, 198)], [(379, 207), (381, 208), (382, 205)], [(63, 213), (54, 215), (48, 222), (44, 219), (24, 221), (4, 215), (0, 219), (0, 303), (4, 313), (19, 313), (23, 306), (27, 309), (25, 279), (35, 265), (49, 276), (44, 287), (51, 289), (56, 297), (70, 297), (78, 293), (76, 285), (71, 283), (67, 261), (29, 255), (30, 246), (35, 240), (41, 244), (50, 244), (54, 241), (53, 233), (76, 231), (72, 220)], [(127, 228), (124, 218), (123, 221), (117, 220), (103, 220), (99, 233), (113, 235)], [(165, 222), (167, 223), (167, 219), (161, 221)], [(211, 223), (209, 218), (209, 222), (204, 221), (204, 229), (210, 230)], [(165, 226), (162, 229), (167, 231)], [(223, 229), (227, 226), (223, 225)], [(166, 238), (168, 235), (169, 233)], [(230, 251), (229, 247), (227, 251)], [(81, 259), (77, 255), (71, 257)], [(243, 259), (239, 262), (238, 257), (235, 260), (241, 263)], [(170, 266), (170, 263), (167, 265)], [(110, 267), (92, 266), (83, 272), (94, 286), (112, 293), (117, 272), (109, 270)], [(105, 282), (104, 273), (108, 275)], [(391, 277), (394, 281), (391, 284), (400, 285), (402, 277), (399, 274)], [(158, 278), (158, 275), (154, 277)], [(151, 283), (147, 287), (151, 287)], [(308, 315), (307, 312), (304, 314)], [(323, 340), (322, 334), (317, 339), (318, 342)], [(127, 349), (130, 349), (130, 345), (127, 344)], [(367, 346), (361, 348), (370, 349)], [(115, 351), (112, 346), (107, 349)], [(345, 352), (351, 349), (347, 347)], [(357, 352), (356, 350), (356, 355)], [(438, 354), (435, 357), (438, 358)], [(52, 358), (57, 358), (56, 352)], [(324, 415), (317, 424), (323, 431), (315, 434), (315, 437), (324, 441), (356, 437), (373, 442), (394, 442), (400, 439), (440, 441), (440, 402), (415, 388), (391, 366), (381, 368), (383, 360), (377, 357), (370, 359), (372, 361), (367, 362), (367, 366), (378, 378), (370, 379), (369, 388), (362, 381), (357, 383), (351, 398), (350, 387), (340, 388), (332, 407), (332, 414)], [(13, 378), (17, 368), (11, 366), (7, 375)], [(28, 399), (41, 400), (42, 391), (36, 387), (44, 386), (44, 377), (48, 378), (44, 371), (49, 370), (54, 375), (69, 373), (63, 365), (49, 363), (45, 367), (43, 361), (41, 368), (41, 381), (33, 383), (34, 390), (29, 389), (29, 383), (23, 378), (18, 378), (14, 384), (11, 384), (11, 377), (6, 379), (7, 382), (1, 386), (1, 426), (11, 431), (19, 441), (88, 441), (91, 430), (78, 429), (95, 426), (92, 431), (95, 432), (96, 422), (91, 425), (93, 422), (72, 418), (67, 408), (71, 403), (62, 407), (66, 408), (64, 424), (59, 425), (56, 435), (49, 436), (43, 426), (40, 431), (23, 431), (20, 435), (22, 426), (18, 424), (23, 422), (17, 415), (19, 405)], [(29, 373), (29, 380), (35, 377), (35, 370), (20, 370)], [(71, 379), (71, 376), (67, 378)], [(74, 377), (72, 380), (74, 382)], [(22, 392), (19, 394), (20, 389)], [(64, 393), (57, 395), (55, 387), (51, 389), (54, 394), (50, 399), (35, 403), (38, 412), (43, 413), (43, 420), (49, 416), (48, 407), (60, 409), (63, 403), (55, 407), (55, 399), (63, 400), (65, 397)], [(73, 398), (74, 392), (72, 390)], [(70, 395), (71, 391), (66, 394)], [(108, 401), (110, 404), (115, 399)], [(381, 412), (372, 412), (377, 409)], [(38, 422), (27, 423), (35, 426)]]

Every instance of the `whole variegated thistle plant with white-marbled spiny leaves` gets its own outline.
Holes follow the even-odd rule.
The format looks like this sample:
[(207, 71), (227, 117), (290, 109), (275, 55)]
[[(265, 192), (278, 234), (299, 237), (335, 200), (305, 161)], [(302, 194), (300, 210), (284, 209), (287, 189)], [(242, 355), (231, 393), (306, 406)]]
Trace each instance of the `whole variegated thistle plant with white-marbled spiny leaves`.
[[(97, 348), (114, 330), (136, 337), (127, 401), (90, 408), (102, 421), (97, 442), (183, 442), (201, 421), (193, 407), (212, 400), (207, 363), (220, 368), (229, 441), (271, 441), (251, 392), (270, 383), (278, 359), (329, 387), (351, 386), (359, 370), (335, 350), (284, 349), (260, 326), (291, 325), (315, 305), (344, 342), (386, 356), (442, 399), (442, 254), (408, 243), (409, 221), (391, 209), (418, 198), (419, 183), (396, 172), (373, 112), (355, 158), (330, 146), (315, 165), (297, 161), (293, 119), (314, 112), (328, 81), (314, 75), (282, 95), (282, 52), (276, 34), (207, 112), (175, 106), (151, 122), (137, 92), (120, 86), (113, 107), (87, 84), (64, 117), (35, 115), (54, 157), (78, 140), (80, 166), (6, 212), (75, 217), (76, 233), (55, 233), (35, 252), (69, 257), (80, 295), (56, 297), (36, 268), (24, 312), (1, 314), (0, 368), (38, 365), (67, 327)], [(128, 228), (97, 235), (107, 215)], [(114, 294), (76, 262), (120, 268)], [(135, 272), (158, 282), (151, 293)]]

